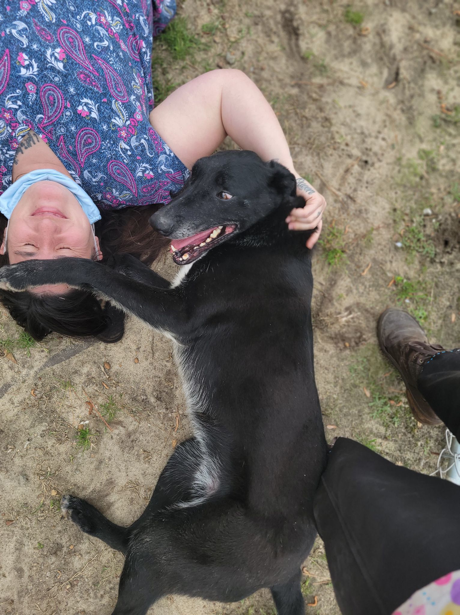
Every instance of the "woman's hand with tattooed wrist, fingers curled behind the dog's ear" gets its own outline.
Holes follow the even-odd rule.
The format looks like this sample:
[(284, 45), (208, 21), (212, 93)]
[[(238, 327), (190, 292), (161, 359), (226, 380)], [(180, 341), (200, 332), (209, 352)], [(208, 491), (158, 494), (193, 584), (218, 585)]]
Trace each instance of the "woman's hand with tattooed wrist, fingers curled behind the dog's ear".
[(305, 207), (293, 209), (286, 218), (289, 228), (293, 231), (309, 231), (315, 229), (307, 241), (307, 248), (311, 248), (317, 242), (323, 226), (323, 212), (326, 208), (326, 200), (298, 173), (295, 173), (297, 182), (297, 194), (305, 199)]

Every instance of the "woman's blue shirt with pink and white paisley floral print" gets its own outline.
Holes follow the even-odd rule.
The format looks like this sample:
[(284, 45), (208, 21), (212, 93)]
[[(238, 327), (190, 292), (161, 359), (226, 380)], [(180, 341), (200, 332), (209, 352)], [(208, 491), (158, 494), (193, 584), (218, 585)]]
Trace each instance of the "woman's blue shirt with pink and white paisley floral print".
[(0, 0), (0, 194), (33, 129), (100, 207), (168, 202), (188, 170), (149, 123), (175, 0)]

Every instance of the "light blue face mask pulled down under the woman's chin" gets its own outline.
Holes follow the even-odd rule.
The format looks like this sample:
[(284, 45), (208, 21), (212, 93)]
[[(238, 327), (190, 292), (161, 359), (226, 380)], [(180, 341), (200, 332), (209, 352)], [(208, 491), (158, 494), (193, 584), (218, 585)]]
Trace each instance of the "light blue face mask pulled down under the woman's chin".
[[(96, 249), (97, 255), (99, 255), (99, 251), (96, 244), (96, 237), (94, 234), (94, 223), (101, 219), (100, 212), (96, 205), (93, 203), (92, 199), (86, 194), (83, 188), (75, 183), (70, 177), (64, 175), (64, 173), (60, 173), (54, 169), (36, 169), (35, 171), (31, 171), (30, 173), (26, 173), (22, 177), (18, 178), (12, 185), (0, 195), (0, 212), (7, 218), (10, 219), (11, 213), (22, 199), (24, 192), (30, 188), (36, 181), (55, 181), (61, 186), (65, 186), (72, 194), (76, 197), (77, 201), (82, 207), (82, 210), (87, 215), (89, 223), (91, 224), (91, 228), (93, 231), (94, 237), (94, 247)], [(8, 222), (9, 224), (9, 222)], [(5, 245), (8, 234), (8, 224), (6, 227), (6, 235), (5, 235)]]

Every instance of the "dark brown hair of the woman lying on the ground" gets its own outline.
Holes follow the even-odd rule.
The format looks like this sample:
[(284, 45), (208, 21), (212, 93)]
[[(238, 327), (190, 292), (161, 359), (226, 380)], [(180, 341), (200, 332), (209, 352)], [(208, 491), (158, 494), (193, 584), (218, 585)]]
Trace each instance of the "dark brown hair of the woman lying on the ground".
[[(106, 212), (95, 224), (104, 263), (109, 256), (129, 253), (151, 265), (163, 252), (168, 240), (153, 231), (149, 218), (161, 205), (126, 207)], [(0, 244), (7, 219), (0, 214)], [(8, 256), (0, 255), (0, 267)], [(77, 338), (96, 337), (101, 341), (119, 341), (124, 333), (124, 314), (109, 303), (101, 305), (87, 291), (71, 290), (66, 295), (33, 295), (0, 290), (0, 301), (15, 321), (34, 339), (43, 339), (51, 331)]]

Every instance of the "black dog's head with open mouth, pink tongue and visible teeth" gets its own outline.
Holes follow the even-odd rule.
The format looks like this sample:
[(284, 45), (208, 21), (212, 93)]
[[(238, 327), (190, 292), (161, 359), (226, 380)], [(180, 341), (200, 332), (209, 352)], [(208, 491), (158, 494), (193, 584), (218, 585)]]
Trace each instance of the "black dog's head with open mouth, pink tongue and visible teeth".
[(188, 264), (295, 193), (295, 177), (278, 162), (263, 162), (251, 151), (219, 152), (197, 161), (191, 180), (149, 221), (172, 239), (175, 263)]

